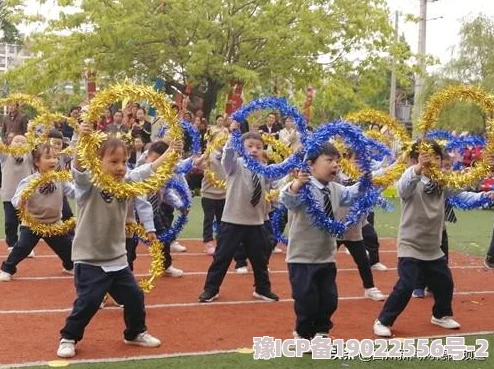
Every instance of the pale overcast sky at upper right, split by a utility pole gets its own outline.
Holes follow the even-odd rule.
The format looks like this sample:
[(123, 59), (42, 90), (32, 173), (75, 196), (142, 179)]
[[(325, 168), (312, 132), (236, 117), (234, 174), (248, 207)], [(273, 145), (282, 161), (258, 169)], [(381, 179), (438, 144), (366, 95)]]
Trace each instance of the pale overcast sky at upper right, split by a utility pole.
[[(420, 0), (386, 0), (390, 10), (403, 14), (420, 14)], [(463, 19), (473, 19), (483, 13), (494, 17), (494, 0), (429, 0), (427, 4), (427, 53), (446, 63), (451, 59), (453, 46), (458, 45), (459, 32)], [(443, 17), (433, 20), (433, 18)], [(394, 22), (394, 15), (392, 17)], [(412, 50), (418, 48), (418, 24), (406, 23), (404, 16), (400, 22), (400, 34), (404, 33)]]

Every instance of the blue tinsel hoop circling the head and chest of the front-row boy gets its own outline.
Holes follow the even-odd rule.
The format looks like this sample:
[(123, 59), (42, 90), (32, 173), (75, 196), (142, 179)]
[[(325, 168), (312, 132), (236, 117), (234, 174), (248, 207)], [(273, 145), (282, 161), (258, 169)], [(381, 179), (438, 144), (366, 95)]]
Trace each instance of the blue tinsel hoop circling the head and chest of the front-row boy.
[[(359, 179), (359, 192), (361, 195), (354, 201), (343, 221), (328, 218), (319, 204), (313, 197), (309, 185), (304, 185), (300, 189), (303, 203), (306, 206), (307, 214), (311, 218), (313, 225), (324, 230), (335, 237), (343, 235), (348, 227), (360, 221), (361, 217), (370, 212), (378, 201), (380, 189), (373, 186), (370, 168), (371, 149), (375, 143), (363, 135), (363, 132), (355, 125), (337, 121), (320, 126), (308, 142), (306, 152), (320, 152), (324, 142), (330, 137), (340, 136), (345, 143), (351, 146), (357, 153), (357, 161), (363, 175)], [(387, 149), (389, 151), (389, 149)]]

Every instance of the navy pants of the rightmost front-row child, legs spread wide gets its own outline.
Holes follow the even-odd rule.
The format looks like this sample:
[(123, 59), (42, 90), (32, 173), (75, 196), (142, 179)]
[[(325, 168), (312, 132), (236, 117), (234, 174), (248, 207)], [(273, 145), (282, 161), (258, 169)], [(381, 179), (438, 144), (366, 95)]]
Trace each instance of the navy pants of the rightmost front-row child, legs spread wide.
[(398, 316), (405, 310), (419, 273), (424, 273), (429, 288), (434, 294), (432, 315), (441, 319), (452, 316), (453, 310), (453, 276), (445, 257), (437, 260), (419, 260), (415, 258), (398, 258), (398, 282), (384, 303), (379, 321), (387, 326), (393, 325)]

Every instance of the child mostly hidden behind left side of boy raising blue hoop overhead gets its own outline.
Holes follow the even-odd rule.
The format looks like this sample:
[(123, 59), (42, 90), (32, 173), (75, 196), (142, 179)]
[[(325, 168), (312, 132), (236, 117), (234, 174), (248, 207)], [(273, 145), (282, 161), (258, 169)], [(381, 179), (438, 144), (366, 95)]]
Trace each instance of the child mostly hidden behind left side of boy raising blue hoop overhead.
[[(211, 141), (214, 136), (211, 137)], [(209, 169), (215, 174), (218, 181), (224, 181), (226, 179), (225, 169), (221, 165), (222, 148), (218, 148), (213, 152), (207, 160), (209, 160)], [(201, 183), (201, 205), (204, 213), (204, 221), (202, 223), (202, 239), (204, 242), (204, 249), (208, 255), (213, 255), (215, 245), (213, 241), (213, 222), (216, 219), (218, 226), (223, 216), (223, 209), (225, 207), (226, 189), (213, 186), (210, 181), (203, 177)], [(218, 230), (219, 233), (219, 230)]]

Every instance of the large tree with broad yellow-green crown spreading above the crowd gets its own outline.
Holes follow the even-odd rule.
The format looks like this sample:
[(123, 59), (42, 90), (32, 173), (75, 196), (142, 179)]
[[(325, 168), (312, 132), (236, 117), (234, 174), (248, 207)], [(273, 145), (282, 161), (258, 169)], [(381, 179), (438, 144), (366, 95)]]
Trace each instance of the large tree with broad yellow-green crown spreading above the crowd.
[(392, 45), (385, 0), (79, 3), (79, 11), (62, 11), (31, 35), (40, 57), (9, 74), (13, 85), (37, 93), (80, 80), (87, 68), (104, 77), (100, 85), (162, 78), (181, 92), (192, 86), (209, 114), (231, 81), (264, 90), (276, 81), (298, 91), (347, 65), (350, 54), (378, 55)]

